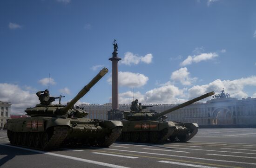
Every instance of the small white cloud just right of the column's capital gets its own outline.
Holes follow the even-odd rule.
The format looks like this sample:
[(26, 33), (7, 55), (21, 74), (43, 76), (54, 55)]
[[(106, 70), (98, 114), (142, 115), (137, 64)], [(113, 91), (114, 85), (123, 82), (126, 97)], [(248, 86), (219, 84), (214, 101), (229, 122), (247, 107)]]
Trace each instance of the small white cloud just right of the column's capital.
[(134, 54), (132, 52), (126, 52), (124, 54), (124, 58), (120, 61), (120, 64), (125, 65), (137, 65), (140, 62), (150, 64), (152, 62), (153, 55), (147, 54), (145, 56), (138, 56), (137, 54)]

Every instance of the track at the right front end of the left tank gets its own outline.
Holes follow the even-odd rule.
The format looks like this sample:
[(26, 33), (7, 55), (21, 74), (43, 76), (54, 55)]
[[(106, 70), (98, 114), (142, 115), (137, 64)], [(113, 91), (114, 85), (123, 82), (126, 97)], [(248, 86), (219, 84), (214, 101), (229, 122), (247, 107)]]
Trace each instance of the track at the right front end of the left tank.
[(121, 127), (115, 127), (112, 129), (111, 133), (107, 136), (105, 136), (105, 139), (103, 142), (99, 143), (100, 147), (108, 147), (112, 143), (115, 142), (115, 140), (121, 135)]

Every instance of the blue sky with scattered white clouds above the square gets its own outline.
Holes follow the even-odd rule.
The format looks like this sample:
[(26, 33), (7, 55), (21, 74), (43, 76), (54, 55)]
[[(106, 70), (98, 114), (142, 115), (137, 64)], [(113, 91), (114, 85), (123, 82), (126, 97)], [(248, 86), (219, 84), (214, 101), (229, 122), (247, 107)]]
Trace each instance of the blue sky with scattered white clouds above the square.
[[(256, 97), (256, 1), (2, 0), (0, 100), (13, 113), (39, 103), (35, 92), (72, 99), (102, 67), (109, 73), (80, 103), (111, 102), (117, 39), (119, 101), (181, 103), (224, 87)], [(47, 81), (47, 80), (46, 80)], [(46, 84), (46, 85), (43, 85)]]

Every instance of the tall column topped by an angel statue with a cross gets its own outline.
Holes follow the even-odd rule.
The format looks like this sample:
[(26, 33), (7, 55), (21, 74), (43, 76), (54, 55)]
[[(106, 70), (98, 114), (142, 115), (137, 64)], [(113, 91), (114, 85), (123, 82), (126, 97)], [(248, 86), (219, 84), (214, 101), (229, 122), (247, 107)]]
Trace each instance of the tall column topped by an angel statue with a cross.
[[(118, 61), (121, 58), (118, 57), (117, 53), (117, 43), (116, 40), (113, 41), (114, 52), (112, 53), (112, 58), (109, 58), (112, 61), (112, 112), (115, 113), (118, 110)], [(112, 113), (113, 114), (113, 113)]]

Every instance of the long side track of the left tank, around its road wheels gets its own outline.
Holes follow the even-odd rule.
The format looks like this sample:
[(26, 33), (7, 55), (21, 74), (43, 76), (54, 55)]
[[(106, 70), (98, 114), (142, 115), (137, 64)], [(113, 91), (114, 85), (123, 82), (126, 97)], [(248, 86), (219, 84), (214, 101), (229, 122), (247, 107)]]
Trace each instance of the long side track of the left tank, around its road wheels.
[[(66, 136), (67, 136), (67, 133), (68, 133), (68, 127), (67, 126), (54, 126), (53, 128), (52, 128), (53, 130), (52, 131), (45, 131), (45, 132), (29, 132), (29, 133), (31, 133), (32, 134), (32, 143), (31, 143), (31, 145), (27, 145), (27, 143), (26, 143), (26, 145), (21, 145), (20, 144), (20, 141), (22, 141), (22, 139), (15, 139), (15, 140), (13, 140), (13, 136), (14, 136), (14, 138), (21, 138), (21, 137), (24, 137), (24, 134), (26, 134), (26, 138), (27, 138), (27, 132), (13, 132), (13, 131), (10, 131), (10, 130), (8, 130), (8, 138), (9, 138), (9, 140), (10, 140), (10, 143), (12, 144), (12, 145), (16, 145), (16, 146), (21, 146), (21, 147), (25, 147), (25, 148), (31, 148), (31, 149), (39, 149), (39, 150), (51, 150), (51, 149), (55, 149), (55, 148), (58, 148), (60, 145), (61, 145), (61, 143), (64, 141), (64, 139), (66, 138)], [(19, 134), (20, 133), (20, 137), (19, 136), (17, 136), (16, 137), (16, 134)], [(47, 139), (48, 139), (48, 141), (45, 143), (45, 146), (44, 147), (42, 147), (41, 145), (40, 145), (40, 142), (41, 142), (41, 140), (40, 140), (40, 142), (39, 142), (39, 145), (38, 145), (38, 147), (35, 147), (34, 145), (33, 145), (33, 143), (34, 143), (34, 134), (40, 134), (40, 137), (41, 137), (41, 135), (43, 134), (43, 133), (47, 133)], [(41, 139), (41, 138), (40, 138)], [(26, 141), (27, 141), (27, 139), (26, 139)], [(17, 143), (17, 142), (19, 142), (19, 143)]]

